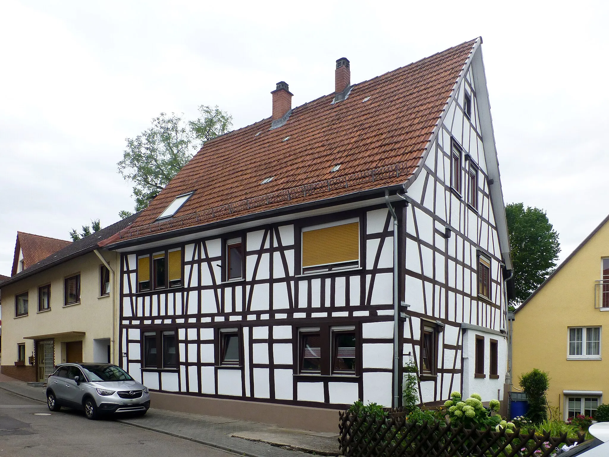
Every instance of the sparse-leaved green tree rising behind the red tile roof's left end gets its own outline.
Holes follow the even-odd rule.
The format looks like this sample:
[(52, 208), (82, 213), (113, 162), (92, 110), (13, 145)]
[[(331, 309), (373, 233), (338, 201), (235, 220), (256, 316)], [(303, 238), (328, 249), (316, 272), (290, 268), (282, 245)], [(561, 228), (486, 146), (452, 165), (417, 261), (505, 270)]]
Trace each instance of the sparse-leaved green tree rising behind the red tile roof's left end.
[[(201, 105), (199, 113), (194, 121), (161, 113), (152, 119), (152, 127), (126, 139), (118, 171), (133, 182), (135, 211), (146, 208), (206, 141), (224, 135), (232, 126), (233, 118), (218, 107)], [(121, 211), (119, 216), (124, 219), (130, 214)]]

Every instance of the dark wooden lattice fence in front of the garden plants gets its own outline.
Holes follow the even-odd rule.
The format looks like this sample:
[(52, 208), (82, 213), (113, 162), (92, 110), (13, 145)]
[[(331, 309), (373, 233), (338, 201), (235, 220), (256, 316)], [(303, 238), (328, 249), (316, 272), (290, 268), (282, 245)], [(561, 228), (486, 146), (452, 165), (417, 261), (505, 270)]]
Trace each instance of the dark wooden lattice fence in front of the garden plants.
[(448, 423), (407, 422), (405, 413), (393, 413), (384, 419), (357, 417), (339, 413), (339, 447), (347, 457), (549, 457), (563, 444), (582, 442), (566, 434), (552, 437), (534, 430), (467, 430)]

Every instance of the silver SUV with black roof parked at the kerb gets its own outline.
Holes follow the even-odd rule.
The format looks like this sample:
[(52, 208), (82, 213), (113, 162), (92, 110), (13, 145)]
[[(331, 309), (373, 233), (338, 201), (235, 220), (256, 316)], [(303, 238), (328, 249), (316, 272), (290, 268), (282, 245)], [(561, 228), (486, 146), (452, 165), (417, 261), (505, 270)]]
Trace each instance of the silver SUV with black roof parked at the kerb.
[(104, 413), (146, 414), (150, 394), (125, 370), (108, 363), (62, 363), (49, 375), (47, 405), (82, 409), (88, 419)]

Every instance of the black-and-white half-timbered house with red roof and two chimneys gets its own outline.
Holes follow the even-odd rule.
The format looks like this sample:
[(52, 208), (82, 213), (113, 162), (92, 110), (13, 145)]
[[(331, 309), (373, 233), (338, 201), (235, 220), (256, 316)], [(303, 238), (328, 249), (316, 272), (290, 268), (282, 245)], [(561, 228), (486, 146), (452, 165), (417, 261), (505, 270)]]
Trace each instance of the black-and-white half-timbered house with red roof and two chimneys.
[(354, 400), (399, 405), (409, 362), (421, 402), (502, 397), (481, 43), (353, 85), (340, 58), (334, 92), (296, 108), (278, 83), (271, 118), (208, 141), (120, 233), (121, 363), (153, 402), (335, 428)]

